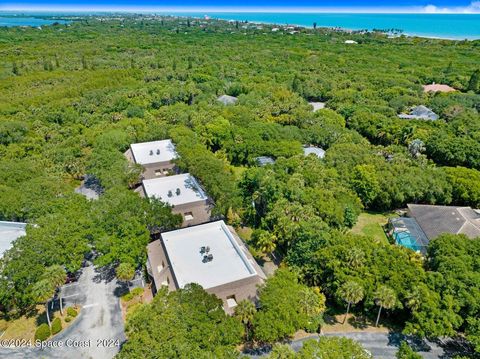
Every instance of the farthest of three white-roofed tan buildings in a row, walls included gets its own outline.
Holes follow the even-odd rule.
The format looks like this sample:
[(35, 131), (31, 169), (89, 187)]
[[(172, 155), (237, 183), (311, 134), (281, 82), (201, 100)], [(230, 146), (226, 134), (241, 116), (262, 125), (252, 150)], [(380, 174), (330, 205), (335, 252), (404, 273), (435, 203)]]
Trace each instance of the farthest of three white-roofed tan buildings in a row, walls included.
[(133, 143), (125, 152), (125, 157), (142, 165), (143, 178), (151, 179), (166, 176), (174, 171), (173, 160), (178, 157), (172, 140)]

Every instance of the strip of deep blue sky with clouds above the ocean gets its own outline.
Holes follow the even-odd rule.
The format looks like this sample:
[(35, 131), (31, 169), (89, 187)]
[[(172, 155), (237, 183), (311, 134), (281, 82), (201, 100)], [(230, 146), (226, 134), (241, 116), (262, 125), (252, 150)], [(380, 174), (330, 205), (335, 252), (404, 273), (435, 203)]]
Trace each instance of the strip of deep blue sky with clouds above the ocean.
[(155, 10), (192, 11), (232, 10), (248, 11), (276, 9), (359, 11), (359, 12), (425, 12), (425, 13), (480, 13), (480, 0), (18, 0), (2, 1), (0, 10)]

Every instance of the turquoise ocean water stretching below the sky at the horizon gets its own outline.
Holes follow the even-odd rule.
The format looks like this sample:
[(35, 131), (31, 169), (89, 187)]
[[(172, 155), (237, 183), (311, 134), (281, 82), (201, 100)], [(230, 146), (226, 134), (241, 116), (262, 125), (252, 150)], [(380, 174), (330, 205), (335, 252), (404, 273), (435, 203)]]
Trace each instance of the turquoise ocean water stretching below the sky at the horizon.
[[(57, 20), (46, 16), (95, 15), (117, 12), (26, 12), (0, 11), (0, 26), (41, 26)], [(341, 28), (345, 30), (398, 29), (407, 36), (452, 40), (480, 39), (480, 14), (420, 14), (420, 13), (324, 13), (324, 12), (142, 12), (142, 14), (172, 15), (227, 21), (294, 25), (303, 27)], [(41, 18), (39, 18), (41, 17)]]

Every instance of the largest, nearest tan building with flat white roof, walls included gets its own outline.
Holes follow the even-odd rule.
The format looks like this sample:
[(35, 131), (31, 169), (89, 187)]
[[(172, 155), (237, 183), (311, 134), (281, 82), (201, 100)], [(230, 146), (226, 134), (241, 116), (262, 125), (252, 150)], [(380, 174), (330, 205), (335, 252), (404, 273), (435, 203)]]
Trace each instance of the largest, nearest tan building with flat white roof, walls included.
[(201, 285), (223, 301), (232, 314), (241, 300), (255, 302), (265, 274), (232, 227), (223, 221), (164, 232), (147, 246), (147, 271), (155, 292), (190, 283)]

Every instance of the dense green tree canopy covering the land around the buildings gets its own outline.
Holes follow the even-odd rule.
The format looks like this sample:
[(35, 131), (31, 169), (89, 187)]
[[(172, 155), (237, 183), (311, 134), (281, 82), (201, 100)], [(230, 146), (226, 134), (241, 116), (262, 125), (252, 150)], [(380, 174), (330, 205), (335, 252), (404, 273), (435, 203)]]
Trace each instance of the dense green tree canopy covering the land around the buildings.
[[(383, 287), (395, 301), (382, 318), (422, 336), (464, 332), (478, 349), (478, 241), (439, 238), (422, 262), (348, 230), (363, 209), (480, 206), (479, 42), (270, 30), (146, 16), (0, 29), (0, 220), (30, 224), (0, 260), (1, 310), (31, 308), (46, 268), (74, 272), (92, 249), (98, 265), (144, 264), (150, 235), (181, 218), (132, 191), (141, 169), (123, 152), (172, 138), (178, 167), (205, 187), (215, 216), (251, 227), (252, 249), (291, 270), (235, 321), (194, 286), (161, 293), (132, 315), (121, 355), (152, 345), (158, 357), (228, 357), (247, 338), (242, 328), (266, 342), (318, 329), (323, 295), (375, 315)], [(352, 38), (358, 46), (344, 44)], [(424, 93), (432, 82), (458, 91)], [(238, 102), (220, 103), (223, 94)], [(314, 112), (309, 101), (327, 108)], [(417, 105), (439, 120), (397, 117)], [(302, 145), (325, 158), (303, 156)], [(258, 156), (275, 163), (258, 166)], [(98, 200), (74, 193), (85, 175)], [(347, 296), (348, 283), (362, 296)], [(150, 316), (185, 337), (169, 341), (169, 326), (154, 328)]]

